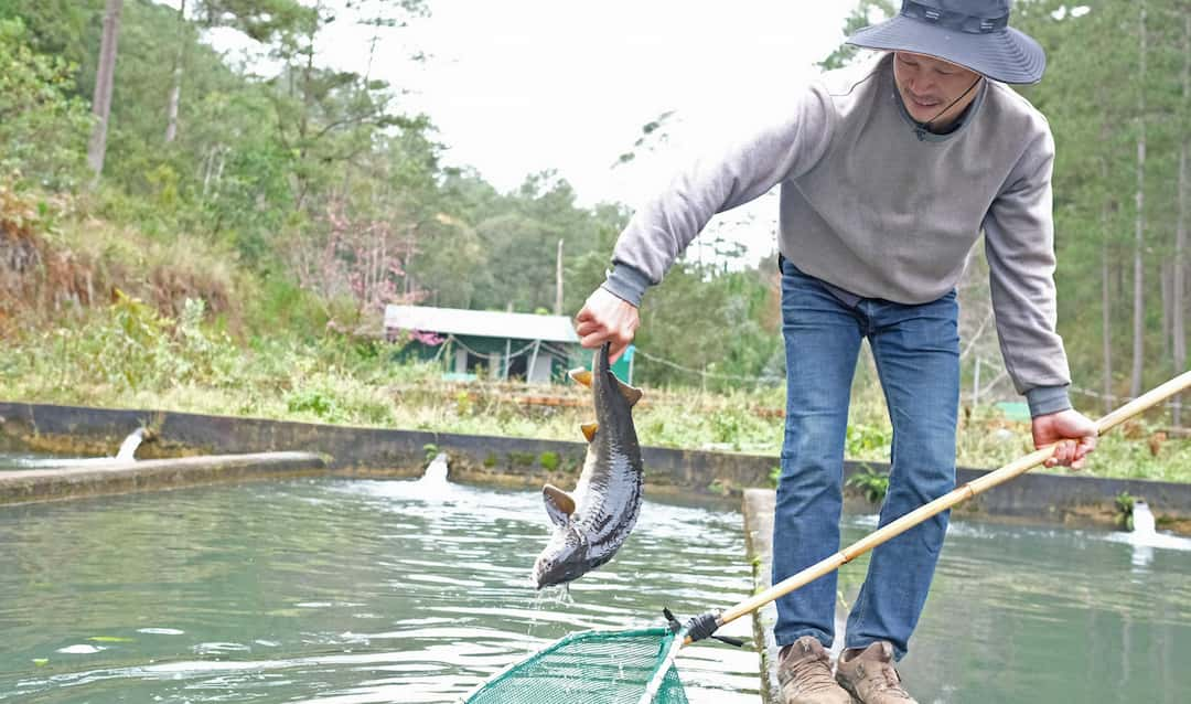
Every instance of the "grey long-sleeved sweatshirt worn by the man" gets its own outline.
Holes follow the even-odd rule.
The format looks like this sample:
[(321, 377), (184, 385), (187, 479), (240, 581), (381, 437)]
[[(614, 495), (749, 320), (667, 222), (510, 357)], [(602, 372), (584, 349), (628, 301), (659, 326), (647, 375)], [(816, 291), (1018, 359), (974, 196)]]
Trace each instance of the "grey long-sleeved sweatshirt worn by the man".
[(1000, 350), (1033, 415), (1071, 407), (1055, 332), (1054, 139), (1024, 98), (985, 80), (959, 129), (917, 129), (892, 56), (824, 74), (780, 120), (697, 161), (643, 205), (604, 284), (640, 305), (712, 216), (781, 185), (779, 249), (802, 272), (902, 304), (954, 288), (985, 233)]

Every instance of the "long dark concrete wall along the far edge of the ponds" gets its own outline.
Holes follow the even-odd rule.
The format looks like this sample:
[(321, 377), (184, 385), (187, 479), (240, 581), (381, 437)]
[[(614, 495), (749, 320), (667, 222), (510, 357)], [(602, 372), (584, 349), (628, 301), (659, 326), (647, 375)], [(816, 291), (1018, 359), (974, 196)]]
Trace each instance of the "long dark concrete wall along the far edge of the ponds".
[[(0, 436), (33, 449), (113, 454), (132, 430), (145, 425), (157, 442), (138, 457), (301, 450), (329, 455), (331, 471), (357, 475), (418, 476), (426, 446), (451, 459), (461, 481), (513, 486), (573, 484), (586, 453), (584, 442), (560, 442), (445, 432), (349, 428), (151, 410), (110, 410), (0, 403)], [(578, 434), (576, 434), (578, 435)], [(738, 496), (750, 486), (769, 487), (775, 456), (643, 448), (646, 479), (654, 496)], [(867, 463), (887, 471), (879, 462)], [(849, 462), (846, 474), (862, 465)], [(960, 469), (960, 484), (984, 472)], [(1191, 530), (1191, 485), (1143, 480), (1027, 474), (964, 504), (962, 515), (1019, 517), (1064, 523), (1110, 523), (1117, 494), (1145, 498), (1160, 519), (1183, 521)], [(863, 499), (853, 498), (854, 507)], [(863, 506), (859, 506), (863, 509)], [(1168, 523), (1165, 527), (1171, 527)], [(1160, 527), (1161, 528), (1161, 527)]]

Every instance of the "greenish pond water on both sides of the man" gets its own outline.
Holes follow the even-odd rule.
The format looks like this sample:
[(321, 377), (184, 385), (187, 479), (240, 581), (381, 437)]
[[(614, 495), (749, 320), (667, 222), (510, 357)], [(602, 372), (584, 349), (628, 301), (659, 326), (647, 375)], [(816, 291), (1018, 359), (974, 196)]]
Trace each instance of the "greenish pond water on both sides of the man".
[[(318, 479), (2, 509), (0, 702), (454, 702), (568, 633), (749, 590), (738, 512), (650, 501), (569, 603), (541, 596), (540, 496)], [(844, 538), (873, 528), (849, 517)], [(924, 704), (1185, 702), (1189, 557), (953, 521), (899, 669)], [(700, 643), (679, 669), (694, 702), (759, 702), (748, 649)]]

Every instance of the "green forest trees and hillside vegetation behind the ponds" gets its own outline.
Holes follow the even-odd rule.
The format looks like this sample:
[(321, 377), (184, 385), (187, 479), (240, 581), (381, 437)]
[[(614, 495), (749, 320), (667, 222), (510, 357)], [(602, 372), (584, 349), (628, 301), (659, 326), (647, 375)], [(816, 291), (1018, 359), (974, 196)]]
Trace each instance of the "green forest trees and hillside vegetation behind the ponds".
[[(0, 390), (151, 403), (251, 370), (297, 393), (282, 369), (323, 363), (303, 350), (341, 370), (385, 357), (389, 303), (578, 311), (629, 207), (580, 206), (555, 172), (500, 192), (443, 166), (434, 116), (410, 112), (401, 86), (314, 50), (336, 21), (399, 36), (434, 21), (434, 1), (330, 5), (0, 0)], [(860, 0), (843, 30), (893, 11)], [(1191, 1), (1024, 0), (1014, 24), (1049, 57), (1022, 92), (1058, 145), (1059, 328), (1092, 415), (1187, 368)], [(218, 54), (214, 29), (254, 39), (275, 70)], [(965, 388), (1016, 400), (980, 249), (960, 292)], [(740, 257), (684, 257), (649, 292), (637, 381), (780, 397), (774, 262)]]

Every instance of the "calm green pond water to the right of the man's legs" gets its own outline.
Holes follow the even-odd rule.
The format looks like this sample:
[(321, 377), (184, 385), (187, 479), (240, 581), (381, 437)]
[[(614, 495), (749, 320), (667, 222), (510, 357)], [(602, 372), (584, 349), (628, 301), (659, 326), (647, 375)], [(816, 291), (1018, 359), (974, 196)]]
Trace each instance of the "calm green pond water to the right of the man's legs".
[(952, 523), (900, 671), (925, 702), (1185, 702), (1191, 567), (1117, 534)]

